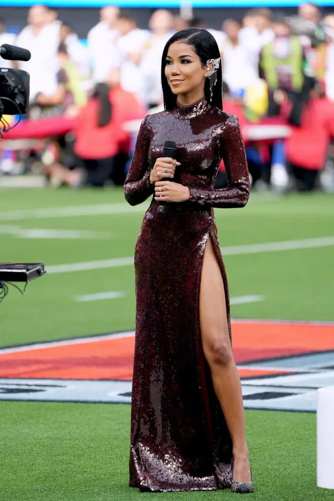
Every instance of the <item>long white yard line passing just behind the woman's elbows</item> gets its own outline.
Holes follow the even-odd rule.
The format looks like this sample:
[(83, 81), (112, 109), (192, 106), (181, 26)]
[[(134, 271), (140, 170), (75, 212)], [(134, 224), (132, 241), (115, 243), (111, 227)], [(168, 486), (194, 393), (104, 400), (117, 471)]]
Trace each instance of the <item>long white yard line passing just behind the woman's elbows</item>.
[[(255, 202), (271, 202), (281, 199), (279, 194), (253, 194), (252, 200)], [(130, 205), (127, 202), (103, 203), (92, 205), (74, 205), (69, 207), (47, 207), (40, 209), (25, 209), (16, 211), (0, 212), (0, 221), (20, 221), (22, 219), (51, 219), (67, 218), (78, 216), (103, 216), (105, 214), (127, 214), (144, 213), (149, 207), (149, 203)]]

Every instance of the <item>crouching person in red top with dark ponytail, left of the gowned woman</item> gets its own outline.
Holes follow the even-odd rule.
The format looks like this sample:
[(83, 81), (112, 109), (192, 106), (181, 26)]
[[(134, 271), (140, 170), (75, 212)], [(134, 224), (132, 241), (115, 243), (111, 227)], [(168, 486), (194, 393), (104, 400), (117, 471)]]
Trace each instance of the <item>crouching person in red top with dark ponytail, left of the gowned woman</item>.
[[(56, 160), (45, 165), (50, 184), (80, 186), (85, 182), (102, 187), (107, 180), (123, 185), (126, 178), (131, 137), (124, 128), (130, 120), (142, 119), (146, 110), (137, 98), (119, 85), (113, 88), (97, 84), (93, 97), (76, 116), (72, 133), (74, 146), (69, 146), (70, 161), (66, 166)], [(75, 166), (75, 168), (73, 168)], [(84, 176), (82, 176), (82, 169)]]

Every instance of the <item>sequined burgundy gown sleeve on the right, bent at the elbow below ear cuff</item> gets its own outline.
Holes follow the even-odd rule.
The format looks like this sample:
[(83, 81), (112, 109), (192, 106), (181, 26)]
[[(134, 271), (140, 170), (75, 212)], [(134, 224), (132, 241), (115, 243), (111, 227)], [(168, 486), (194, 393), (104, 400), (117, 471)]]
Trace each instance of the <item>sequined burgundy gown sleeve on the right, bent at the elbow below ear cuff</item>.
[(212, 207), (243, 207), (249, 197), (249, 175), (239, 120), (235, 115), (230, 115), (226, 121), (220, 153), (224, 160), (228, 187), (219, 189), (189, 187), (189, 200)]

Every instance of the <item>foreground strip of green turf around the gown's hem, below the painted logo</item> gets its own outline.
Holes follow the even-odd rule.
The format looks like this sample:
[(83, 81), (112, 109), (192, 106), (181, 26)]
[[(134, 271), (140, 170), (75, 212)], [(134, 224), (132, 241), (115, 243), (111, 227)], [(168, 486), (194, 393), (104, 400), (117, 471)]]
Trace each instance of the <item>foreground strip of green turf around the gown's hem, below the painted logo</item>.
[[(1, 402), (1, 499), (236, 499), (229, 490), (140, 493), (130, 488), (130, 405)], [(316, 416), (246, 411), (257, 501), (326, 501), (316, 487)], [(159, 498), (160, 498), (159, 497)]]

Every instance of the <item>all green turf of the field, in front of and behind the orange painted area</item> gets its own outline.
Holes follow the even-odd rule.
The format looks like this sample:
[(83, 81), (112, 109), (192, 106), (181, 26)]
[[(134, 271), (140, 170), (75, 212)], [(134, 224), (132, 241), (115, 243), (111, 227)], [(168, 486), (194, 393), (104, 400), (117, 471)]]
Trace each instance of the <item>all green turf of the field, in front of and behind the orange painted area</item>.
[[(24, 296), (10, 289), (0, 306), (0, 346), (134, 329), (131, 260), (122, 266), (101, 261), (133, 257), (147, 206), (129, 206), (121, 189), (0, 190), (1, 261), (42, 261), (50, 270), (29, 283)], [(242, 210), (216, 210), (216, 224), (227, 247), (231, 298), (262, 297), (232, 305), (234, 318), (334, 320), (333, 196), (254, 193)], [(286, 242), (286, 249), (268, 252), (270, 242)], [(248, 252), (252, 244), (263, 247)], [(100, 268), (56, 266), (82, 262)], [(77, 301), (110, 291), (123, 297)], [(129, 405), (0, 402), (0, 409), (1, 501), (154, 495), (128, 487)], [(246, 419), (256, 488), (251, 498), (334, 498), (316, 487), (314, 414), (246, 411)], [(235, 498), (227, 491), (159, 495)]]

